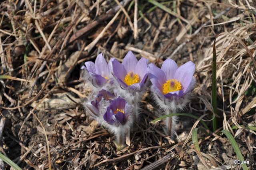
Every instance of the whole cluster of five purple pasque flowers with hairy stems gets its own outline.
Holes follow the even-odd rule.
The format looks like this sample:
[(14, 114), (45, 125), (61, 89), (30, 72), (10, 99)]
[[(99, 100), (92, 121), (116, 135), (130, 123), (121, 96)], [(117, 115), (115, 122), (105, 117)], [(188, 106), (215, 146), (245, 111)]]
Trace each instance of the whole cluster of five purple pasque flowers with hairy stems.
[[(146, 58), (138, 61), (131, 51), (122, 63), (114, 58), (107, 63), (100, 53), (95, 63), (85, 62), (82, 69), (85, 81), (92, 87), (91, 101), (84, 103), (86, 113), (116, 135), (119, 150), (139, 119), (139, 102), (149, 86), (156, 104), (170, 114), (186, 106), (195, 85), (195, 65), (191, 61), (178, 67), (175, 61), (166, 59), (160, 69), (148, 64)], [(175, 125), (176, 117), (166, 120), (167, 135), (173, 135)]]

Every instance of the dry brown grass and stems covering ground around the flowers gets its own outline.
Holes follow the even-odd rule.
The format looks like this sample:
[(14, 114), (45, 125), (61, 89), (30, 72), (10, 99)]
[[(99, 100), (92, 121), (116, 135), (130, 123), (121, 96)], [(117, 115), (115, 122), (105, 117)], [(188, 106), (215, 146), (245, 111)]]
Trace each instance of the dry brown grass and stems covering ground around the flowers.
[[(22, 169), (206, 169), (203, 163), (239, 169), (220, 133), (226, 129), (248, 168), (256, 168), (256, 2), (158, 0), (162, 9), (154, 0), (123, 2), (0, 2), (0, 151)], [(230, 34), (216, 39), (218, 129), (212, 132), (212, 53), (222, 32)], [(84, 112), (90, 87), (79, 81), (80, 67), (100, 52), (122, 61), (128, 50), (159, 66), (167, 57), (196, 63), (197, 86), (184, 113), (207, 114), (201, 119), (210, 130), (180, 117), (174, 143), (162, 122), (150, 123), (160, 111), (147, 92), (130, 146), (117, 152), (114, 136)], [(191, 141), (196, 126), (202, 155)]]

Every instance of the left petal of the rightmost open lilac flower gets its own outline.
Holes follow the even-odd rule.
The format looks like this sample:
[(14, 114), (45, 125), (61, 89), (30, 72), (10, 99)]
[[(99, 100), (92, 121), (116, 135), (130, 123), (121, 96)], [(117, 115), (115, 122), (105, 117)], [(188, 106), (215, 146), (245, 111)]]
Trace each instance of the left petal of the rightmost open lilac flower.
[(166, 76), (164, 75), (164, 71), (160, 68), (156, 67), (153, 63), (148, 65), (149, 78), (154, 86), (156, 86), (160, 91), (163, 90), (163, 84), (166, 83)]

